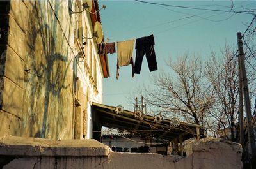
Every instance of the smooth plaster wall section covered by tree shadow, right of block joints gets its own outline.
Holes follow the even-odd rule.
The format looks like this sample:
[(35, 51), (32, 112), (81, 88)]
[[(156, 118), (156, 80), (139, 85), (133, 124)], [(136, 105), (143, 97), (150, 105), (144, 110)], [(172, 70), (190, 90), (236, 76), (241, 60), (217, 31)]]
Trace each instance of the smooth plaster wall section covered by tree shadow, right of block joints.
[[(73, 73), (70, 48), (63, 36), (58, 3), (31, 3), (27, 31), (26, 68), (22, 110), (22, 136), (71, 138)], [(68, 29), (70, 36), (70, 22)]]

